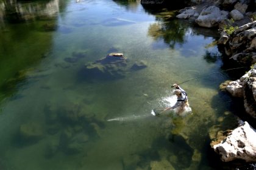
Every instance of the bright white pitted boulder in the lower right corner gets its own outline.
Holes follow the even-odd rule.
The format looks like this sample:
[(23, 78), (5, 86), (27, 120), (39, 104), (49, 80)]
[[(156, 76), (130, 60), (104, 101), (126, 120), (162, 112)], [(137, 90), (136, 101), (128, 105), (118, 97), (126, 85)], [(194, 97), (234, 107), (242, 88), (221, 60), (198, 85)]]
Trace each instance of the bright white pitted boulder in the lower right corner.
[(256, 161), (256, 129), (247, 122), (237, 127), (219, 144), (213, 145), (214, 151), (221, 155), (222, 161), (242, 159)]

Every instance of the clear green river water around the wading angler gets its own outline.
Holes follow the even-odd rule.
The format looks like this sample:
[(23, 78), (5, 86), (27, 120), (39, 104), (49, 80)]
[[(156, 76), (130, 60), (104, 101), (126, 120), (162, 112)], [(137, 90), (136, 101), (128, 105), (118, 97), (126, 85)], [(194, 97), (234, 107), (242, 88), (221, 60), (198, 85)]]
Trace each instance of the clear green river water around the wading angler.
[[(151, 115), (168, 106), (172, 83), (221, 71), (214, 30), (164, 22), (139, 2), (40, 4), (18, 21), (28, 19), (1, 20), (0, 169), (216, 169), (208, 132), (235, 121), (219, 91), (226, 73), (182, 84), (192, 115)], [(110, 52), (126, 68), (147, 67), (119, 79), (85, 74)]]

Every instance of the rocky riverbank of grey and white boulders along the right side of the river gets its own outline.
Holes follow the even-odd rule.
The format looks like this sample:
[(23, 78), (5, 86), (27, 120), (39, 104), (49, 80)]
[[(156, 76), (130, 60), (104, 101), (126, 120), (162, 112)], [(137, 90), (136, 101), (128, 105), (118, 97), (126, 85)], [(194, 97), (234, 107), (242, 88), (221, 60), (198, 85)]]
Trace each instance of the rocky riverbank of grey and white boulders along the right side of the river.
[[(219, 29), (219, 51), (224, 56), (224, 64), (229, 68), (240, 66), (248, 72), (235, 81), (228, 80), (220, 85), (233, 97), (244, 100), (244, 115), (251, 122), (256, 120), (256, 2), (255, 1), (215, 1), (199, 0), (190, 2), (179, 10), (177, 18), (188, 19), (201, 27)], [(164, 0), (143, 0), (143, 5), (166, 4)], [(243, 107), (243, 106), (241, 106)], [(243, 115), (242, 114), (242, 115)], [(240, 126), (228, 132), (218, 132), (211, 146), (221, 156), (222, 161), (256, 161), (255, 124), (241, 121)], [(225, 135), (223, 135), (225, 134)]]

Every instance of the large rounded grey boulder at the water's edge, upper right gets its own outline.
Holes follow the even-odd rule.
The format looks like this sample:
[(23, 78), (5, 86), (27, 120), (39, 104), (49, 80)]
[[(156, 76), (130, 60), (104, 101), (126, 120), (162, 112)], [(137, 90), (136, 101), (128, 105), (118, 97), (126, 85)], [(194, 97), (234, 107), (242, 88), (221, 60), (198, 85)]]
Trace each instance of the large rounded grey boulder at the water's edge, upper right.
[(227, 19), (228, 15), (229, 12), (212, 5), (202, 10), (196, 19), (196, 23), (201, 27), (217, 27), (220, 21)]

